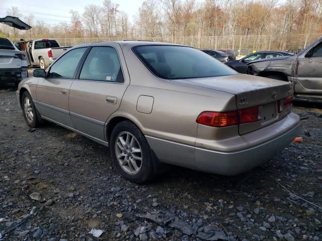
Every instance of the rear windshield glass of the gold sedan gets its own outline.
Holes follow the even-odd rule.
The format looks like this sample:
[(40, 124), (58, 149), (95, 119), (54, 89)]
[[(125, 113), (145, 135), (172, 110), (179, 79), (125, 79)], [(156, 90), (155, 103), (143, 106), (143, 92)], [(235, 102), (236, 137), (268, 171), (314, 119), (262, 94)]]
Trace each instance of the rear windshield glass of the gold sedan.
[(133, 51), (160, 78), (189, 79), (236, 74), (215, 58), (190, 47), (147, 45), (134, 47)]

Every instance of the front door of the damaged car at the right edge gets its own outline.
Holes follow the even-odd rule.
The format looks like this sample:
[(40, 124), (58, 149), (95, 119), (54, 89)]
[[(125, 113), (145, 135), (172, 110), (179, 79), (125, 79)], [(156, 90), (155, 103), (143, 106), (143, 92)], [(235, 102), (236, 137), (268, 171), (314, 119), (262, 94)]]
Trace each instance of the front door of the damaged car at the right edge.
[(294, 80), (296, 93), (322, 95), (322, 41), (298, 56)]

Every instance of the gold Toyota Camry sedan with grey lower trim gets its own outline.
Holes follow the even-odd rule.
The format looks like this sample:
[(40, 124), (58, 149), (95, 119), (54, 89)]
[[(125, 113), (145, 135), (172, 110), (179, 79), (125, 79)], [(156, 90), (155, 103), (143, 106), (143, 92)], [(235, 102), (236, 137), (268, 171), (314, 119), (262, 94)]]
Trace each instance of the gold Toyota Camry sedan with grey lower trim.
[(160, 163), (222, 175), (261, 165), (296, 136), (292, 96), (292, 83), (143, 41), (77, 45), (17, 90), (29, 126), (46, 120), (108, 146), (136, 183)]

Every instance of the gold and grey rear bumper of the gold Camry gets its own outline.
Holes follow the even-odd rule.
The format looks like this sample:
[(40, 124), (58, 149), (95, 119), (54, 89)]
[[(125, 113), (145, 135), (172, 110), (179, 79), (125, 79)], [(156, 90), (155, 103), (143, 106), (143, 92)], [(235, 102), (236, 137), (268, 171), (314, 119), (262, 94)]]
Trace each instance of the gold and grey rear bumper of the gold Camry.
[[(227, 150), (217, 151), (193, 147), (155, 137), (145, 136), (160, 162), (220, 175), (237, 175), (268, 161), (289, 145), (298, 133), (299, 116), (289, 113), (280, 121), (226, 142)], [(245, 147), (244, 147), (245, 146)]]

